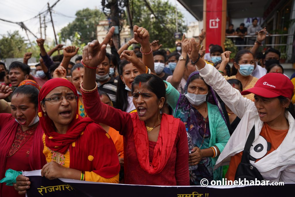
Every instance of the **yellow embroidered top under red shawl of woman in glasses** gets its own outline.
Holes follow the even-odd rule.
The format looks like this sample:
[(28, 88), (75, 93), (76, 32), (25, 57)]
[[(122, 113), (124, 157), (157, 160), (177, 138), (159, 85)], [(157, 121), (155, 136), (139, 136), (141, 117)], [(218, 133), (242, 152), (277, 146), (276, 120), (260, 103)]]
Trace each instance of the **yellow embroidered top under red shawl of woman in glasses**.
[[(46, 157), (47, 163), (49, 162), (57, 162), (59, 165), (62, 165), (63, 167), (70, 167), (70, 151), (69, 149), (65, 154), (61, 154), (60, 152), (53, 151), (50, 148), (48, 148), (45, 145), (45, 134), (43, 134), (43, 154)], [(72, 144), (72, 146), (75, 146), (75, 142)], [(112, 178), (104, 178), (94, 172), (87, 172), (85, 171), (85, 180), (86, 181), (93, 181), (93, 182), (101, 182), (101, 183), (119, 183), (119, 174)]]

